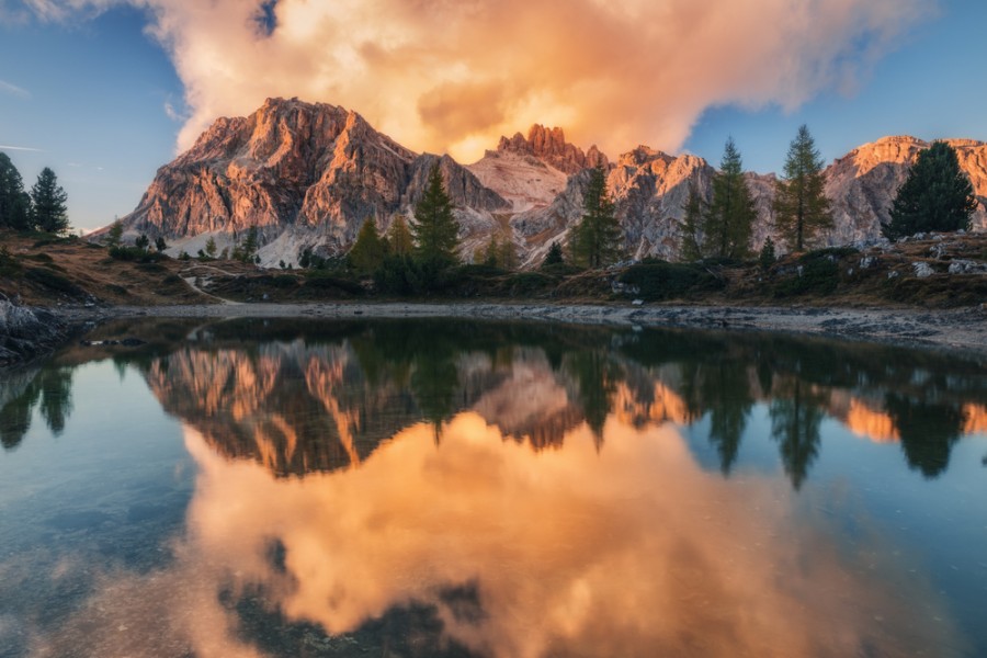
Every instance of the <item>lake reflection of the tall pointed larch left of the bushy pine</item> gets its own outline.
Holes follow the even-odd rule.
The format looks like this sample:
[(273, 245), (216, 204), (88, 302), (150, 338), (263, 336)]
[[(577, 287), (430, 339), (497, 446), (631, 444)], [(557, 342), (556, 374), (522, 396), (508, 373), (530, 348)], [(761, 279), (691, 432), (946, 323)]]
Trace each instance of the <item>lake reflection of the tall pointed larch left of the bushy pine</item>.
[(781, 386), (778, 395), (768, 410), (771, 436), (779, 442), (785, 473), (798, 490), (819, 454), (819, 424), (826, 400), (798, 378)]

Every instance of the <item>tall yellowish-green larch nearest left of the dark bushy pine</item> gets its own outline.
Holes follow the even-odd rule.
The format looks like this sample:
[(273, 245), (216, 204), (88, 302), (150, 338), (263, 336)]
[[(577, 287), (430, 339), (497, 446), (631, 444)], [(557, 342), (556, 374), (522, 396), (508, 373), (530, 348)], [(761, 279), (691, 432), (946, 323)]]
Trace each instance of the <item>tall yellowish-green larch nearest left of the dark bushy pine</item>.
[(832, 228), (832, 211), (824, 188), (825, 162), (806, 125), (789, 145), (784, 178), (775, 183), (774, 213), (779, 230), (795, 251), (820, 231)]

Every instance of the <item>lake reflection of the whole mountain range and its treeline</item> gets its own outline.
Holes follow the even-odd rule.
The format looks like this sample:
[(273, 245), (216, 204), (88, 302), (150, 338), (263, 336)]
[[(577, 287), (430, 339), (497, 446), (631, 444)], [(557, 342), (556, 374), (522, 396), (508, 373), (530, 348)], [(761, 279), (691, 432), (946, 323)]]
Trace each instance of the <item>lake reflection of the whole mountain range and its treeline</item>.
[[(166, 410), (220, 454), (279, 475), (359, 465), (418, 422), (441, 440), (442, 423), (463, 410), (537, 450), (560, 446), (581, 423), (602, 441), (611, 415), (638, 428), (705, 420), (729, 475), (752, 410), (763, 406), (796, 488), (818, 458), (827, 418), (900, 443), (926, 477), (948, 468), (960, 438), (987, 429), (987, 375), (976, 360), (760, 334), (238, 320), (115, 359), (137, 366)], [(64, 427), (70, 381), (71, 368), (55, 361), (5, 382), (5, 449), (21, 441), (35, 408), (55, 432)]]

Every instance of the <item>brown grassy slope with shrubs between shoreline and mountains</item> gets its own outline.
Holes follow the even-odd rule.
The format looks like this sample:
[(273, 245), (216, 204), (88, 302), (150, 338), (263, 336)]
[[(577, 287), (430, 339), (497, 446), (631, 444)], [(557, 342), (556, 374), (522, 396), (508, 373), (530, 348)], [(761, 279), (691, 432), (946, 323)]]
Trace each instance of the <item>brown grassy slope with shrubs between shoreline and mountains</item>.
[[(0, 245), (10, 254), (0, 257), (0, 292), (38, 306), (212, 304), (217, 297), (241, 302), (383, 298), (368, 294), (360, 282), (325, 273), (261, 271), (230, 261), (126, 262), (109, 258), (104, 248), (83, 240), (42, 236), (0, 234)], [(864, 259), (869, 259), (866, 266), (862, 266)], [(985, 271), (950, 274), (950, 264), (958, 260), (984, 265)], [(918, 277), (915, 263), (926, 263), (934, 273)], [(197, 292), (188, 279), (212, 295)], [(615, 281), (627, 285), (615, 292)], [(973, 306), (987, 302), (987, 236), (941, 236), (896, 245), (886, 252), (839, 249), (790, 256), (767, 271), (756, 263), (655, 263), (629, 271), (576, 274), (565, 268), (504, 273), (467, 266), (451, 276), (441, 293), (430, 295), (431, 299), (595, 303), (638, 297), (730, 305)]]

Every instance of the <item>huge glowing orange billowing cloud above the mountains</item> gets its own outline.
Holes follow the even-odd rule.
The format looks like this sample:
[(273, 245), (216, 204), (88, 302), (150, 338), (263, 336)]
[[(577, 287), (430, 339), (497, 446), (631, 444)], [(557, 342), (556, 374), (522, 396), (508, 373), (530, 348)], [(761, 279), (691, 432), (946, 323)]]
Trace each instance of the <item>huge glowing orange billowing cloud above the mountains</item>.
[[(341, 104), (469, 160), (538, 122), (615, 154), (677, 150), (721, 104), (852, 92), (922, 0), (131, 0), (185, 84), (189, 147), (268, 97)], [(31, 0), (46, 16), (114, 0)]]

